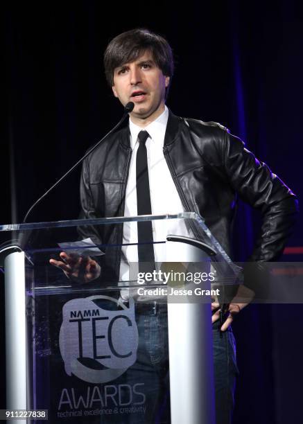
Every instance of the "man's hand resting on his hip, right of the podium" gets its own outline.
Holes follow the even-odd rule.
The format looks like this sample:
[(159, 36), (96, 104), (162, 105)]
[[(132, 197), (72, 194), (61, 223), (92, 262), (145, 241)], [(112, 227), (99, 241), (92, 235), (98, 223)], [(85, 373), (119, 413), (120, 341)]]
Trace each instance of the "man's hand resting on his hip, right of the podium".
[[(252, 299), (254, 298), (254, 292), (249, 288), (245, 287), (245, 285), (239, 285), (238, 291), (234, 299), (232, 299), (231, 303), (227, 308), (227, 318), (225, 319), (223, 326), (220, 328), (221, 331), (226, 331), (227, 328), (232, 324), (234, 318), (239, 314), (239, 312), (248, 306)], [(220, 305), (218, 302), (211, 303), (211, 312), (213, 312), (211, 322), (214, 323), (218, 321), (220, 318)]]

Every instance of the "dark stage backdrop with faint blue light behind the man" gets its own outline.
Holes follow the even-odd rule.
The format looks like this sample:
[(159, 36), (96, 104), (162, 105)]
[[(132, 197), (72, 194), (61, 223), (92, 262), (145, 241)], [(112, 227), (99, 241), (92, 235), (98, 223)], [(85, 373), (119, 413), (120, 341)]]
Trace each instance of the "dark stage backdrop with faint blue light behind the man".
[[(112, 37), (137, 26), (161, 33), (173, 47), (176, 69), (168, 107), (180, 116), (229, 127), (302, 197), (299, 4), (92, 0), (1, 6), (0, 222), (21, 222), (37, 197), (119, 120), (121, 105), (106, 85), (102, 55)], [(37, 206), (29, 221), (77, 218), (79, 175), (80, 169)], [(241, 204), (236, 259), (248, 256), (258, 224), (258, 215)], [(302, 232), (299, 222), (288, 246), (300, 247)], [(302, 255), (283, 260), (300, 261)], [(241, 372), (234, 423), (302, 421), (302, 312), (300, 305), (251, 305), (241, 312), (234, 324)], [(3, 389), (4, 378), (0, 384)]]

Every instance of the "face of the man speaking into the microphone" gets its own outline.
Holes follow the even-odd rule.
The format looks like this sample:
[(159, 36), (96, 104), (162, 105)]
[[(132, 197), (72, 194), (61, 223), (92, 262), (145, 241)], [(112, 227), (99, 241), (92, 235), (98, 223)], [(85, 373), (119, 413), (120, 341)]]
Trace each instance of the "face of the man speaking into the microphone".
[(132, 121), (151, 122), (164, 110), (168, 84), (169, 77), (157, 67), (153, 55), (145, 51), (134, 62), (114, 69), (112, 91), (123, 106), (128, 102), (135, 103), (130, 114)]

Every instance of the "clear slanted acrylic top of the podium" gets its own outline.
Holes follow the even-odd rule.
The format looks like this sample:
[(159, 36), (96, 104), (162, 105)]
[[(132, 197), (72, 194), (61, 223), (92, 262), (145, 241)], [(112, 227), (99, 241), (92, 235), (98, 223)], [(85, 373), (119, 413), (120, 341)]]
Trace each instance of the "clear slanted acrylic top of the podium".
[[(137, 222), (144, 221), (153, 222), (153, 240), (138, 243)], [(125, 275), (132, 264), (138, 267), (138, 245), (142, 243), (153, 243), (157, 264), (210, 260), (216, 279), (224, 276), (234, 281), (239, 274), (239, 267), (232, 263), (205, 220), (194, 212), (1, 224), (0, 267), (8, 255), (24, 251), (27, 263), (44, 270), (51, 259), (62, 260), (60, 252), (64, 251), (76, 257), (92, 256), (108, 280), (115, 273), (115, 279), (129, 282), (130, 277)], [(49, 266), (48, 272), (53, 272), (53, 266)]]

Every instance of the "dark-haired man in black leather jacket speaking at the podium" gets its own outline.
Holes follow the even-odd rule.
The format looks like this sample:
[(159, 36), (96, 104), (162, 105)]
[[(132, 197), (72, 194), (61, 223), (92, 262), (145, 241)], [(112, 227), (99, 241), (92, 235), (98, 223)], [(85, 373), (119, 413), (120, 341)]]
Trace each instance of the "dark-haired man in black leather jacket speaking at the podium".
[[(230, 254), (234, 201), (241, 195), (251, 206), (261, 210), (263, 218), (261, 237), (250, 260), (275, 260), (282, 253), (293, 225), (297, 211), (295, 196), (225, 127), (180, 118), (167, 109), (165, 101), (173, 77), (173, 54), (166, 39), (146, 29), (122, 33), (107, 46), (104, 64), (114, 96), (123, 106), (133, 102), (135, 107), (130, 113), (129, 125), (117, 130), (83, 164), (80, 196), (85, 218), (142, 214), (136, 175), (140, 164), (136, 159), (141, 150), (146, 149), (150, 213), (198, 213)], [(141, 141), (142, 134), (144, 141)], [(130, 231), (127, 227), (104, 228), (102, 233), (87, 228), (82, 232), (83, 236), (105, 244), (121, 245), (139, 240), (140, 230), (136, 231), (135, 236), (133, 229)], [(157, 232), (152, 231), (154, 235)], [(193, 238), (201, 236), (194, 224), (183, 228), (182, 233)], [(77, 279), (81, 271), (85, 281), (91, 281), (102, 272), (107, 279), (118, 281), (123, 279), (121, 260), (130, 262), (139, 255), (125, 247), (105, 253), (101, 267), (92, 258), (75, 259), (64, 252), (62, 261), (51, 260), (51, 263), (71, 278)], [(157, 251), (152, 252), (152, 256), (157, 262)], [(217, 305), (213, 305), (217, 423), (230, 423), (231, 419), (238, 371), (230, 324), (243, 306), (243, 303), (230, 303), (227, 319), (220, 327), (223, 337), (220, 337), (219, 311)], [(138, 315), (148, 314), (141, 308)], [(150, 326), (158, 324), (153, 322)], [(158, 373), (165, 374), (167, 355), (157, 364), (148, 359), (148, 355), (152, 357), (153, 352), (142, 353), (141, 371), (154, 366), (159, 367)], [(163, 385), (159, 385), (159, 389), (162, 390)], [(155, 401), (155, 411), (161, 403), (163, 398)], [(146, 423), (155, 422), (155, 411), (145, 417)], [(163, 418), (161, 422), (166, 421)]]

